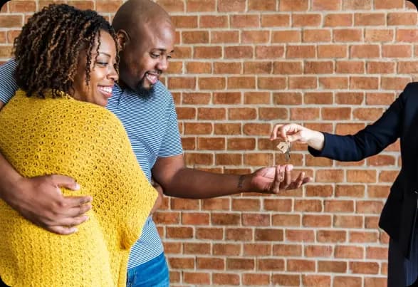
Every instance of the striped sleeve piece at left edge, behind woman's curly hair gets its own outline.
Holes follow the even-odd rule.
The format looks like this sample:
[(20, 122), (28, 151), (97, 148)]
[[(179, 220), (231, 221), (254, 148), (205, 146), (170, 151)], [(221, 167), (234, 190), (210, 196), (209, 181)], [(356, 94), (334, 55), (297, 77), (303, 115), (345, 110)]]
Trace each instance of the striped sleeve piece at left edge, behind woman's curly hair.
[(19, 88), (13, 75), (16, 66), (14, 59), (0, 66), (0, 100), (3, 103), (8, 103)]

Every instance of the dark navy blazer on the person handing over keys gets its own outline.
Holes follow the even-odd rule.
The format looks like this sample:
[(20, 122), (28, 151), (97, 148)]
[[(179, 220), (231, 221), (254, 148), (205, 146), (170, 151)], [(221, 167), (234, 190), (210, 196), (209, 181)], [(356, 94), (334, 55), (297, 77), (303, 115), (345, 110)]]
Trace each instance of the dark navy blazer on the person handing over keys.
[(400, 138), (402, 167), (390, 189), (379, 226), (409, 258), (418, 200), (418, 83), (409, 83), (379, 120), (355, 135), (323, 134), (323, 150), (309, 148), (310, 154), (344, 162), (376, 155)]

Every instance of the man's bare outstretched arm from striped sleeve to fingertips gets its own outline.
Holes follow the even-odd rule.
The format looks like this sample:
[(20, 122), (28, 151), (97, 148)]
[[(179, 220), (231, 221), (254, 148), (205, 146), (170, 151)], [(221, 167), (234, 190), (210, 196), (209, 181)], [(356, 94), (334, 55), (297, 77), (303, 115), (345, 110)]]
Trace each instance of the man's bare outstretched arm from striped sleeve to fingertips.
[(241, 192), (277, 194), (283, 189), (296, 189), (310, 182), (301, 172), (291, 181), (291, 165), (264, 167), (251, 174), (216, 174), (185, 167), (183, 155), (159, 157), (152, 176), (161, 184), (164, 194), (187, 199), (206, 199)]

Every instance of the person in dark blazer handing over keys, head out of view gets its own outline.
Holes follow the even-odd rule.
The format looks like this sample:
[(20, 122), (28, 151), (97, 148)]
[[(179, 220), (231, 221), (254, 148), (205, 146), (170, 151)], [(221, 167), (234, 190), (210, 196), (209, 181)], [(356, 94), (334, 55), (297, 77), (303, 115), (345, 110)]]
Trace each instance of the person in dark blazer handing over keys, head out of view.
[[(390, 236), (387, 285), (412, 285), (418, 276), (418, 83), (410, 83), (379, 120), (355, 135), (331, 135), (301, 125), (276, 125), (271, 140), (305, 142), (315, 157), (358, 161), (400, 138), (402, 169), (392, 184), (379, 225)], [(414, 285), (415, 286), (415, 285)]]

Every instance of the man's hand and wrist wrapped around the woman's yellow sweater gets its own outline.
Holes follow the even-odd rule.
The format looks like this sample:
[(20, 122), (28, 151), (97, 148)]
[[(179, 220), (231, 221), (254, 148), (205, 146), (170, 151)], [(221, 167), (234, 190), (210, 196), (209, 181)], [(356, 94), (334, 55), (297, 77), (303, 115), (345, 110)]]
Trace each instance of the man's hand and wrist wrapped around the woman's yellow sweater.
[(80, 187), (71, 177), (48, 175), (21, 177), (14, 190), (2, 198), (24, 218), (56, 234), (73, 234), (75, 226), (88, 219), (85, 212), (91, 209), (92, 198), (64, 197), (60, 187), (78, 190)]

